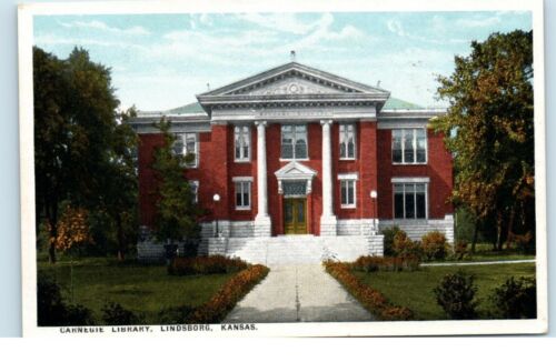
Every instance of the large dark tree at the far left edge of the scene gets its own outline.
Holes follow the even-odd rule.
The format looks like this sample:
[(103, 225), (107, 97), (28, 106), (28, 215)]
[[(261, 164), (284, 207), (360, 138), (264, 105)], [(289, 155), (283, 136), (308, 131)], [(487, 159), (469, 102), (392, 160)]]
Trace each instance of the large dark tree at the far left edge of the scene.
[[(62, 202), (109, 210), (118, 224), (135, 208), (129, 155), (135, 138), (118, 121), (110, 69), (83, 49), (62, 60), (36, 47), (33, 87), (37, 227), (44, 220), (49, 240), (57, 240)], [(49, 257), (56, 262), (53, 243)]]

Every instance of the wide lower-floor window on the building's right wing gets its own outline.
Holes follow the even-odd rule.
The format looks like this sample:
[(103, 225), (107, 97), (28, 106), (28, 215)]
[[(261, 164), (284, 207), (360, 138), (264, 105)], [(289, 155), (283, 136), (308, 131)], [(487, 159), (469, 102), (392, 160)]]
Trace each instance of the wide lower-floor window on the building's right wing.
[(394, 218), (395, 219), (427, 218), (426, 183), (394, 184)]

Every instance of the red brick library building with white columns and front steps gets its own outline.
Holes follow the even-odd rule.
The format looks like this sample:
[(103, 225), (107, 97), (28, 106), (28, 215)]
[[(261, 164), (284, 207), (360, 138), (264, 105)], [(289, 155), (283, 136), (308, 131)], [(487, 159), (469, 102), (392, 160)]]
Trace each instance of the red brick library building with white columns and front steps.
[(200, 220), (201, 253), (349, 260), (381, 254), (379, 230), (394, 224), (413, 239), (439, 230), (453, 241), (451, 155), (427, 129), (444, 110), (297, 62), (197, 99), (132, 120), (140, 135), (140, 258), (162, 250), (148, 237), (150, 163), (162, 142), (152, 123), (161, 115), (178, 135), (176, 152), (195, 154), (186, 178), (209, 210)]

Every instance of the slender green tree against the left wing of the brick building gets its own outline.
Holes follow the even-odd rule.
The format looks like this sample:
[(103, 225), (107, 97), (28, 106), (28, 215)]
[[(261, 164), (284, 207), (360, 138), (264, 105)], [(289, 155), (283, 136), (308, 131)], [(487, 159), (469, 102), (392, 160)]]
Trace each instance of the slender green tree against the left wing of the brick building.
[(163, 143), (155, 150), (152, 169), (157, 179), (155, 229), (162, 242), (195, 240), (199, 235), (198, 218), (202, 214), (195, 200), (191, 185), (185, 177), (186, 163), (195, 154), (175, 152), (176, 135), (170, 122), (161, 119), (156, 127), (163, 135)]

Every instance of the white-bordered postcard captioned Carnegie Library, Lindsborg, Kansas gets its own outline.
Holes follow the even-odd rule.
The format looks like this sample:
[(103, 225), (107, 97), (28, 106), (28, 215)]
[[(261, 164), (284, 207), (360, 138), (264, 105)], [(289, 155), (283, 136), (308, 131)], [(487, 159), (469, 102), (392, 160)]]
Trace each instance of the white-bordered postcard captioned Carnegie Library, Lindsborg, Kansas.
[(24, 3), (24, 335), (547, 331), (543, 2)]

